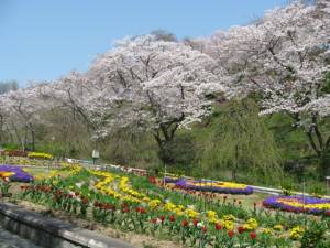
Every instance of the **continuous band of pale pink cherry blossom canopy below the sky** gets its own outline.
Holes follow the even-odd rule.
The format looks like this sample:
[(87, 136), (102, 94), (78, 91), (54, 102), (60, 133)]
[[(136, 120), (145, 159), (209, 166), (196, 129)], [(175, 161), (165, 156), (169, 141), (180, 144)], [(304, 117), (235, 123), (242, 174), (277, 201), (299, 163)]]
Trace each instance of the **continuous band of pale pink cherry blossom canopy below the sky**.
[(1, 95), (2, 128), (33, 129), (44, 111), (67, 108), (84, 117), (95, 138), (128, 126), (155, 134), (163, 130), (166, 138), (200, 121), (219, 93), (229, 98), (260, 94), (263, 115), (327, 117), (329, 42), (328, 0), (294, 1), (252, 24), (190, 42), (127, 37), (86, 73)]

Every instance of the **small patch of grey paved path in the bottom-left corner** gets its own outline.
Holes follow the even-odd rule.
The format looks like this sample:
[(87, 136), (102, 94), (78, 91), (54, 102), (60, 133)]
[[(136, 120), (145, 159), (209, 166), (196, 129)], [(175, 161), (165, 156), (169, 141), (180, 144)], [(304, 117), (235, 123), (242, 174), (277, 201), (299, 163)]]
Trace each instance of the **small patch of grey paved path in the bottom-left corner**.
[(0, 248), (42, 248), (0, 227)]

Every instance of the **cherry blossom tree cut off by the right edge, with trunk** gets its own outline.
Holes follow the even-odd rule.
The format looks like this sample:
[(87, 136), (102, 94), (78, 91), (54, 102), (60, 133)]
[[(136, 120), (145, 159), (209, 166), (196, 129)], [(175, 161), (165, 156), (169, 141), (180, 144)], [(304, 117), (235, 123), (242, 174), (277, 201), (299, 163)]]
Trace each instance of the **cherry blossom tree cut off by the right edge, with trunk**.
[(330, 148), (330, 137), (319, 129), (330, 114), (329, 33), (329, 1), (294, 1), (256, 23), (216, 33), (206, 51), (218, 61), (230, 96), (261, 93), (261, 114), (288, 114), (321, 157)]

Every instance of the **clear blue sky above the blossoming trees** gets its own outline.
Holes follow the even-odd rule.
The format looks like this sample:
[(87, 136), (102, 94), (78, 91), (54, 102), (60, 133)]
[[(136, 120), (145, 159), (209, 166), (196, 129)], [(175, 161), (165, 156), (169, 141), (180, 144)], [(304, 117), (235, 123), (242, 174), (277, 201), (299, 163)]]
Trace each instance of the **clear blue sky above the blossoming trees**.
[(0, 0), (0, 82), (52, 80), (86, 71), (127, 35), (179, 39), (246, 24), (286, 0)]

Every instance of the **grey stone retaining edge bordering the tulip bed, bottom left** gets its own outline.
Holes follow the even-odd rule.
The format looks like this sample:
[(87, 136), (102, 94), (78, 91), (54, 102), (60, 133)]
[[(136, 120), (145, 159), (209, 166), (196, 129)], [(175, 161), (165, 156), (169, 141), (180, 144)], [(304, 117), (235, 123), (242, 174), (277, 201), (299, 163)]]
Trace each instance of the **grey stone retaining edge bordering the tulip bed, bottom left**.
[(11, 203), (0, 203), (0, 225), (47, 248), (133, 248), (122, 240), (56, 218), (44, 217)]

